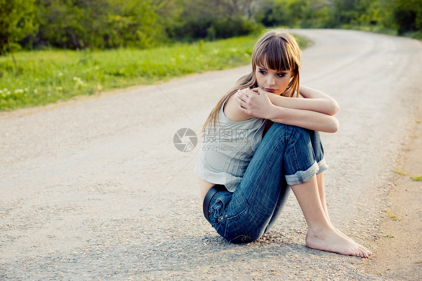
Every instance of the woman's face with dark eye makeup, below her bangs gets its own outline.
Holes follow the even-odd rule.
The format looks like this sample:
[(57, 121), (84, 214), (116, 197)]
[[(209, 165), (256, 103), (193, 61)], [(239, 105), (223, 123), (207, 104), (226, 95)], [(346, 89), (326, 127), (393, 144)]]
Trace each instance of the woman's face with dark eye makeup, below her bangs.
[(258, 87), (276, 95), (286, 90), (292, 76), (291, 70), (277, 71), (262, 65), (257, 65), (255, 69)]

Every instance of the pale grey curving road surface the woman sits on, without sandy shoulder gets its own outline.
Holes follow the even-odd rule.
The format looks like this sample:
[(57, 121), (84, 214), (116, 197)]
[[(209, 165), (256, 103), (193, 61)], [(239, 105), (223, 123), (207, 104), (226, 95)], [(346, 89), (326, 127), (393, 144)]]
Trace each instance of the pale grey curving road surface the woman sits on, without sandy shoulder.
[[(315, 42), (303, 51), (301, 82), (341, 106), (340, 130), (322, 135), (331, 220), (377, 255), (421, 99), (422, 44), (292, 31)], [(206, 223), (193, 174), (199, 146), (180, 152), (173, 137), (198, 132), (249, 68), (0, 114), (0, 279), (383, 280), (362, 269), (370, 260), (308, 249), (293, 195), (254, 243), (228, 244)]]

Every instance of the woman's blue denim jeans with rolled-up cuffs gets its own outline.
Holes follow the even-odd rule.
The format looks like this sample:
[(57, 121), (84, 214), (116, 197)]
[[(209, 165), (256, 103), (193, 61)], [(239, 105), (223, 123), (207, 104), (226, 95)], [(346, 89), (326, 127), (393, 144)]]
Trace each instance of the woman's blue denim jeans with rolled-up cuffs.
[(274, 123), (264, 135), (235, 192), (217, 192), (210, 223), (231, 243), (259, 239), (281, 214), (289, 185), (312, 179), (328, 168), (319, 133)]

